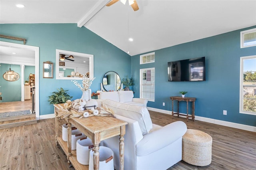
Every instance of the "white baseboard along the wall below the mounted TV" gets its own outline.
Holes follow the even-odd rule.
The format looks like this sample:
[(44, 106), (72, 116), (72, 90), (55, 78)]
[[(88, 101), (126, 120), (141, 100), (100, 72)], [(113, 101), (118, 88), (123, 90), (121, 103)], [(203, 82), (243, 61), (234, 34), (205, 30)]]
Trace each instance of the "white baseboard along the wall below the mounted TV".
[[(155, 111), (155, 112), (160, 112), (160, 113), (172, 115), (172, 111), (166, 111), (166, 110), (156, 109), (156, 108), (152, 108), (152, 107), (147, 107), (147, 108), (148, 108), (149, 111)], [(182, 114), (184, 114), (184, 113), (182, 113)], [(175, 115), (175, 116), (177, 116), (177, 115)], [(180, 117), (185, 117), (185, 116), (180, 115)], [(226, 126), (226, 127), (248, 130), (248, 131), (251, 131), (251, 132), (256, 132), (256, 127), (249, 126), (249, 125), (243, 125), (243, 124), (239, 124), (239, 123), (221, 121), (221, 120), (218, 120), (218, 119), (211, 119), (211, 118), (200, 117), (200, 116), (195, 116), (195, 120), (196, 121), (203, 121), (203, 122), (213, 123), (213, 124), (216, 124), (216, 125), (222, 125), (222, 126)]]

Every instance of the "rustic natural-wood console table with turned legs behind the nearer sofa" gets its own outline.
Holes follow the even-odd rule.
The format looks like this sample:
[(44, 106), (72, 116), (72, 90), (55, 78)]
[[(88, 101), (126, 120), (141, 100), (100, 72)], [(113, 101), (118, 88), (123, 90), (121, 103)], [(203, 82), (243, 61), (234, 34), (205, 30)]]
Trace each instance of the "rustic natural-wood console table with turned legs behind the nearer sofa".
[(88, 165), (80, 164), (76, 159), (76, 150), (71, 150), (71, 125), (74, 125), (82, 133), (84, 133), (88, 138), (92, 140), (94, 144), (94, 154), (93, 154), (93, 166), (94, 170), (99, 169), (99, 144), (101, 140), (111, 138), (113, 136), (119, 135), (119, 156), (120, 156), (120, 170), (124, 170), (124, 134), (125, 134), (125, 125), (127, 122), (121, 121), (119, 119), (105, 116), (92, 116), (87, 118), (70, 118), (67, 119), (68, 123), (68, 142), (62, 140), (62, 135), (59, 135), (60, 122), (57, 111), (60, 109), (58, 105), (54, 105), (55, 113), (55, 125), (56, 125), (56, 144), (60, 144), (61, 148), (64, 150), (67, 155), (68, 164), (72, 164), (76, 170), (88, 170)]

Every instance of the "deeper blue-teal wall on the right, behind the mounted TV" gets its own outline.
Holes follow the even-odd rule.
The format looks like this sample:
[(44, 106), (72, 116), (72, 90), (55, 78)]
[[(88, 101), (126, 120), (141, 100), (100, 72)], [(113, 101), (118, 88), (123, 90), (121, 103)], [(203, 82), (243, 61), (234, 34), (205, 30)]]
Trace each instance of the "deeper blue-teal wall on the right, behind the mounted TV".
[[(240, 57), (256, 55), (256, 47), (240, 48), (240, 32), (252, 28), (256, 26), (156, 50), (155, 63), (140, 65), (140, 55), (132, 56), (135, 97), (140, 94), (140, 69), (155, 67), (155, 102), (148, 107), (171, 111), (170, 96), (188, 91), (187, 97), (196, 97), (196, 116), (256, 126), (256, 116), (239, 113)], [(168, 82), (168, 61), (203, 56), (206, 81)], [(180, 102), (180, 112), (186, 113), (185, 102)]]

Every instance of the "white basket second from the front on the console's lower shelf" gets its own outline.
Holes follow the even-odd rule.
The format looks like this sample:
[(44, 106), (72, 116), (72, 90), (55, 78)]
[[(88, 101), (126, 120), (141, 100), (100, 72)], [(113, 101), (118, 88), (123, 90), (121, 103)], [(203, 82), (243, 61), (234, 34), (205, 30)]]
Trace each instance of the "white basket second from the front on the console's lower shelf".
[(90, 138), (80, 138), (76, 141), (76, 159), (80, 164), (89, 165), (90, 150), (93, 144)]

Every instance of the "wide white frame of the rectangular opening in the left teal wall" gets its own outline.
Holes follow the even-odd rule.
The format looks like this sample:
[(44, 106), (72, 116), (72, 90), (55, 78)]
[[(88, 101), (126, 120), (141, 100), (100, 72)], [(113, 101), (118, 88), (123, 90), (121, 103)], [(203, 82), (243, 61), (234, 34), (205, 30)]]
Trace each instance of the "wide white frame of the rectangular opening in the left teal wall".
[(62, 49), (56, 49), (56, 79), (61, 79), (61, 80), (82, 80), (82, 77), (59, 77), (59, 56), (60, 54), (66, 54), (66, 55), (76, 55), (79, 57), (87, 57), (89, 58), (89, 73), (90, 73), (90, 79), (94, 78), (94, 63), (93, 63), (93, 57), (94, 55), (92, 54), (86, 54), (86, 53), (78, 53), (74, 51), (66, 51)]

